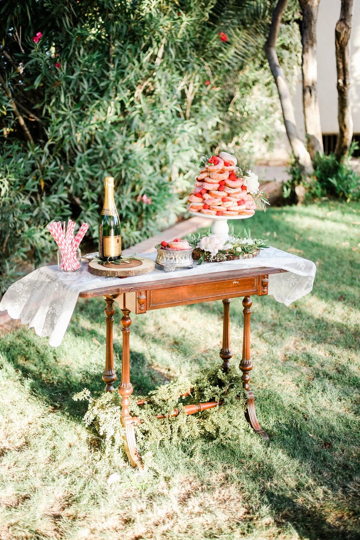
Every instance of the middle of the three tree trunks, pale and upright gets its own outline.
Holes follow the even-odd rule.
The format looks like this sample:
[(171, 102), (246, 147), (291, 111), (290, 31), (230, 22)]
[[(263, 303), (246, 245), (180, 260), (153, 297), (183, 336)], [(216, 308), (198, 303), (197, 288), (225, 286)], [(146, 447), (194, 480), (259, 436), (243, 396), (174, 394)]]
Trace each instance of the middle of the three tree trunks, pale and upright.
[(317, 91), (316, 22), (320, 0), (299, 0), (302, 10), (302, 96), (305, 136), (311, 159), (323, 152)]

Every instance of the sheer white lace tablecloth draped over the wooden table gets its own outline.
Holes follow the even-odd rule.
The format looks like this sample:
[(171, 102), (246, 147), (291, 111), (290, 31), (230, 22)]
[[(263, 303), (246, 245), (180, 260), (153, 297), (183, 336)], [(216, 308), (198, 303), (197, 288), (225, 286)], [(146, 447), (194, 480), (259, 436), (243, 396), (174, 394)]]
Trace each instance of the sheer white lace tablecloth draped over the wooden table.
[[(156, 253), (139, 254), (139, 257), (155, 260)], [(130, 278), (105, 278), (87, 271), (87, 264), (77, 273), (59, 272), (56, 266), (43, 266), (13, 283), (0, 302), (0, 311), (7, 310), (12, 319), (34, 328), (42, 337), (49, 336), (49, 343), (57, 347), (63, 340), (81, 291), (99, 287), (131, 284), (144, 281), (164, 281), (175, 276), (226, 272), (228, 269), (259, 268), (267, 266), (282, 268), (287, 273), (270, 274), (268, 294), (277, 302), (289, 306), (313, 289), (316, 266), (314, 262), (274, 247), (262, 249), (253, 259), (228, 262), (203, 262), (194, 268), (176, 272), (157, 269), (145, 275)]]

